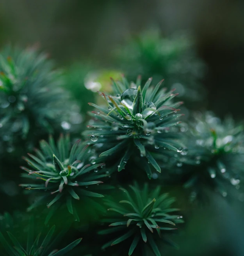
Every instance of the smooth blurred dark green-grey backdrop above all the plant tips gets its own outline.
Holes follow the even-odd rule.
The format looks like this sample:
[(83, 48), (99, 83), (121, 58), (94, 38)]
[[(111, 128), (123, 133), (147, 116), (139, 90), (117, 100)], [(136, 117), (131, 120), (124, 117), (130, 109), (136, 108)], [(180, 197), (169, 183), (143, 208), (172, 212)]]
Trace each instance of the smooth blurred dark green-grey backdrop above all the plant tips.
[(1, 0), (0, 46), (38, 44), (61, 67), (87, 59), (111, 67), (111, 52), (131, 35), (189, 30), (208, 67), (208, 108), (242, 117), (243, 13), (242, 0)]

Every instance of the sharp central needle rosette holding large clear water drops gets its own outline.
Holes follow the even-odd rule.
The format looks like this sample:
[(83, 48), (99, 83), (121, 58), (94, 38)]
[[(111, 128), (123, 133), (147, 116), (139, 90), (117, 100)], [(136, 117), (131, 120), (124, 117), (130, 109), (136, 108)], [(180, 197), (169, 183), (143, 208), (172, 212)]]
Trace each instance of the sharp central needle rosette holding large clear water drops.
[(171, 127), (180, 123), (177, 118), (182, 116), (171, 114), (180, 110), (178, 107), (182, 102), (173, 102), (178, 94), (174, 94), (174, 90), (167, 92), (166, 88), (162, 88), (162, 81), (150, 86), (151, 81), (151, 78), (148, 79), (143, 88), (140, 77), (131, 84), (125, 78), (123, 82), (113, 81), (113, 94), (101, 93), (107, 107), (89, 103), (98, 109), (91, 113), (98, 121), (88, 126), (96, 130), (84, 132), (91, 137), (89, 143), (103, 143), (100, 156), (119, 159), (118, 171), (123, 170), (132, 158), (150, 179), (151, 166), (161, 172), (153, 157), (155, 152), (164, 156), (168, 152), (160, 148), (182, 151), (178, 134), (171, 132)]

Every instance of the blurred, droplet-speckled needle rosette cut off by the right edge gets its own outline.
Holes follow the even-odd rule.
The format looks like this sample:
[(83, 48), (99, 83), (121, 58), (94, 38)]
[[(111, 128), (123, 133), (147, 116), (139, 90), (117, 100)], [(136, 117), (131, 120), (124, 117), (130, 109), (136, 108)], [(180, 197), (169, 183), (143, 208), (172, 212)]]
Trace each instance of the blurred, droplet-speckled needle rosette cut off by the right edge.
[(223, 197), (233, 188), (239, 190), (244, 177), (243, 124), (235, 124), (230, 116), (221, 121), (211, 112), (195, 113), (185, 139), (178, 172), (184, 187), (192, 190), (191, 199), (206, 196), (209, 189)]

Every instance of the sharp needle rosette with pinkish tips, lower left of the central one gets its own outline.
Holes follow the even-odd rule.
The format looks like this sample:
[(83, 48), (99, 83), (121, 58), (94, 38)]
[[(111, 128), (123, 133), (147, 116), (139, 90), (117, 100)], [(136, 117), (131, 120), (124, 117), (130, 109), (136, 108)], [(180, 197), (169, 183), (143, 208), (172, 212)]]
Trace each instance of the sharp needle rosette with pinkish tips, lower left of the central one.
[[(85, 198), (91, 201), (89, 197), (103, 197), (102, 194), (91, 190), (94, 185), (103, 183), (100, 179), (107, 177), (102, 169), (104, 164), (87, 164), (89, 157), (92, 156), (91, 149), (80, 140), (71, 147), (68, 135), (61, 135), (57, 145), (50, 136), (49, 143), (45, 140), (40, 141), (40, 148), (41, 150), (35, 150), (36, 156), (28, 154), (28, 157), (23, 158), (28, 163), (28, 168), (21, 166), (21, 169), (27, 172), (22, 176), (30, 182), (20, 186), (25, 187), (29, 192), (34, 190), (41, 195), (28, 210), (45, 203), (49, 208), (62, 201), (78, 220), (77, 211), (73, 208), (74, 199)], [(50, 211), (48, 218), (52, 216), (55, 209)]]

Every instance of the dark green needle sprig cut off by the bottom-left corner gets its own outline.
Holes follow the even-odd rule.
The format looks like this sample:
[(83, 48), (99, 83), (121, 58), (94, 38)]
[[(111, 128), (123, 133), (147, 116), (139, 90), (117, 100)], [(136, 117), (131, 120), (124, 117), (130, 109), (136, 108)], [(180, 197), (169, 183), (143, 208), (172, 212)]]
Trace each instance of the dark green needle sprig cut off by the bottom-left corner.
[[(24, 219), (25, 218), (25, 219)], [(57, 249), (55, 242), (57, 238), (61, 238), (60, 234), (64, 235), (64, 230), (59, 234), (55, 234), (53, 238), (55, 226), (52, 226), (49, 231), (43, 236), (34, 224), (33, 217), (26, 222), (26, 217), (22, 216), (22, 222), (16, 222), (16, 218), (12, 218), (9, 214), (0, 216), (0, 251), (3, 256), (68, 256), (74, 247), (76, 247), (82, 238), (75, 240), (63, 249)], [(26, 223), (23, 227), (21, 224)], [(38, 233), (37, 233), (38, 231)], [(56, 241), (55, 241), (56, 240)]]

